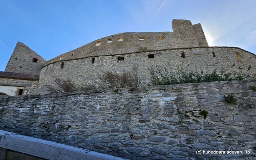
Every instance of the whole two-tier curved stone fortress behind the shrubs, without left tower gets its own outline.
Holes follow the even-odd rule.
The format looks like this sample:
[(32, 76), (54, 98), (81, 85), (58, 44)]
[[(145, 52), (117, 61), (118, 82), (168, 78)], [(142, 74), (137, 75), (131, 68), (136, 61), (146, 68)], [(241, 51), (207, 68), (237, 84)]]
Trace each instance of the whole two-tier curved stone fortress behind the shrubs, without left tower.
[[(139, 78), (150, 82), (148, 66), (178, 65), (189, 71), (225, 71), (239, 73), (256, 65), (256, 56), (240, 48), (208, 47), (200, 24), (189, 20), (173, 20), (174, 32), (120, 33), (104, 37), (47, 61), (41, 68), (39, 92), (45, 84), (53, 82), (53, 76), (70, 78), (78, 85), (95, 82), (97, 74), (105, 71), (131, 70), (139, 65)], [(185, 58), (182, 58), (182, 53)], [(150, 57), (151, 55), (151, 57)], [(154, 58), (152, 58), (154, 55)], [(121, 60), (123, 58), (123, 60)], [(250, 74), (256, 74), (255, 67)], [(37, 90), (31, 90), (38, 92)]]

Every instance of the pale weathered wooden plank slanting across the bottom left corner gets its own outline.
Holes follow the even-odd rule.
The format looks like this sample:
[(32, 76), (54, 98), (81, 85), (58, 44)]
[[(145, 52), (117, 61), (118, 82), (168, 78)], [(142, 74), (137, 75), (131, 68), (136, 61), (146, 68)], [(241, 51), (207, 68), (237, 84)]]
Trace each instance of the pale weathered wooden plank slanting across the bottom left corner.
[(120, 157), (97, 153), (86, 149), (67, 146), (46, 140), (31, 138), (29, 136), (18, 135), (3, 130), (0, 130), (0, 137), (1, 136), (2, 139), (0, 138), (0, 147), (46, 159), (123, 160), (123, 158)]

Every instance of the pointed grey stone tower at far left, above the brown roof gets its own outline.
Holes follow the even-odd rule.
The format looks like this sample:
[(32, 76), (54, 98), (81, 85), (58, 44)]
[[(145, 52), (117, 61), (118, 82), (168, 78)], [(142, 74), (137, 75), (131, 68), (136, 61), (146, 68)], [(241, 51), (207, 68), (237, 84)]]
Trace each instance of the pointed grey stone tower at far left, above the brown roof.
[(22, 42), (16, 47), (7, 63), (5, 72), (39, 75), (46, 60)]

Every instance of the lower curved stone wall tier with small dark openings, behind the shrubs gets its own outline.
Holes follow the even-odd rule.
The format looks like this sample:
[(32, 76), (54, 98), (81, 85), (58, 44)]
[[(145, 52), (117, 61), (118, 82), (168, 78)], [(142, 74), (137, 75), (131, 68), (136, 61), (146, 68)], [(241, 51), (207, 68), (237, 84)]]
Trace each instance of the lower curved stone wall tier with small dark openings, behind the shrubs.
[[(185, 54), (182, 58), (181, 54)], [(148, 58), (148, 55), (154, 55), (154, 58)], [(215, 56), (215, 57), (214, 57)], [(123, 57), (124, 60), (118, 60)], [(61, 68), (63, 63), (63, 68)], [(249, 65), (256, 65), (256, 56), (239, 48), (228, 47), (207, 47), (207, 48), (191, 48), (191, 49), (170, 49), (151, 52), (140, 52), (123, 55), (106, 55), (59, 61), (48, 64), (41, 69), (39, 84), (49, 84), (53, 82), (53, 76), (58, 78), (70, 78), (78, 85), (84, 85), (94, 82), (98, 73), (104, 71), (123, 71), (130, 70), (134, 64), (139, 65), (139, 78), (147, 84), (150, 81), (150, 72), (147, 66), (160, 65), (170, 67), (173, 71), (178, 70), (178, 66), (184, 68), (185, 71), (201, 71), (211, 72), (217, 68), (217, 72), (221, 68), (225, 68), (226, 72), (240, 73), (248, 70)], [(251, 67), (251, 76), (256, 74), (254, 67)]]

